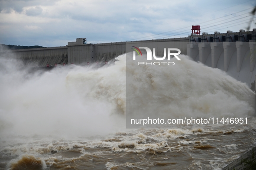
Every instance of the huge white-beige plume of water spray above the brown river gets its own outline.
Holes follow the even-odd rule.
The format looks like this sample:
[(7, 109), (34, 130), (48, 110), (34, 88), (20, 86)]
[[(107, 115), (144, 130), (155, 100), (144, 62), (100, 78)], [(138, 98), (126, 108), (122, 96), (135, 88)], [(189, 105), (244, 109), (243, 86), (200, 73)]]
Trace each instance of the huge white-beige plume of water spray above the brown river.
[(136, 63), (126, 70), (126, 55), (109, 67), (61, 66), (34, 74), (13, 67), (14, 60), (0, 60), (1, 136), (64, 138), (125, 129), (126, 74), (134, 78), (134, 87), (150, 90), (143, 95), (134, 90), (134, 106), (147, 101), (166, 118), (254, 113), (255, 94), (245, 83), (187, 56), (175, 67), (140, 67), (143, 75), (136, 74)]

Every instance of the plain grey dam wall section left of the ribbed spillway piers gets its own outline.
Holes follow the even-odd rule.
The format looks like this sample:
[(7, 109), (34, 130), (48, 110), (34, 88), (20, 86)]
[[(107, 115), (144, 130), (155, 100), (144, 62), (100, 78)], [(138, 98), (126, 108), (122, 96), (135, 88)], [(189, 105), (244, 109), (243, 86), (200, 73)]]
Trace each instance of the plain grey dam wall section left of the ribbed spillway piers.
[[(68, 42), (68, 45), (62, 47), (50, 48), (32, 48), (11, 50), (15, 57), (27, 67), (49, 67), (63, 64), (90, 65), (92, 63), (105, 63), (126, 53), (126, 43), (150, 43), (150, 42), (174, 42), (176, 48), (181, 49), (182, 54), (187, 54), (186, 45), (189, 43), (186, 38), (168, 38), (157, 40), (145, 40), (136, 42), (110, 42), (99, 44), (84, 44), (83, 39), (77, 38), (76, 42)], [(183, 42), (179, 44), (178, 42)]]

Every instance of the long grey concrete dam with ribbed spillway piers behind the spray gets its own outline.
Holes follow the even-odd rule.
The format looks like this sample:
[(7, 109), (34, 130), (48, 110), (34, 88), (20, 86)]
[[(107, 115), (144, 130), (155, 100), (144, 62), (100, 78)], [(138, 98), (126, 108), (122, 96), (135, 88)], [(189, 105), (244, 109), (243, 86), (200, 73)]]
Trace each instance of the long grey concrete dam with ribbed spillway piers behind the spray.
[[(134, 42), (111, 42), (87, 44), (86, 38), (77, 38), (76, 42), (68, 45), (50, 48), (33, 48), (11, 50), (15, 57), (26, 67), (51, 67), (55, 65), (77, 64), (90, 65), (92, 63), (105, 64), (111, 59), (125, 54), (127, 47), (133, 43), (172, 43), (171, 48), (179, 48), (181, 54), (190, 56), (209, 67), (219, 68), (237, 80), (250, 83), (256, 75), (256, 29), (226, 33), (203, 32), (191, 33), (185, 38), (155, 39)], [(128, 46), (127, 46), (128, 45)], [(159, 49), (162, 50), (162, 49)], [(156, 51), (162, 56), (162, 51)]]

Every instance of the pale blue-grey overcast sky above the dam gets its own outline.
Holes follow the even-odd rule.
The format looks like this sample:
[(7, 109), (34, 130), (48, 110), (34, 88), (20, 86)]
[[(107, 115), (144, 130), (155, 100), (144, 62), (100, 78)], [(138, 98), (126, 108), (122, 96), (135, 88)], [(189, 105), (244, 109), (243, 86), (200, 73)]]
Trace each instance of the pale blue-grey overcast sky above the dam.
[(256, 28), (256, 0), (0, 0), (0, 44), (65, 46)]

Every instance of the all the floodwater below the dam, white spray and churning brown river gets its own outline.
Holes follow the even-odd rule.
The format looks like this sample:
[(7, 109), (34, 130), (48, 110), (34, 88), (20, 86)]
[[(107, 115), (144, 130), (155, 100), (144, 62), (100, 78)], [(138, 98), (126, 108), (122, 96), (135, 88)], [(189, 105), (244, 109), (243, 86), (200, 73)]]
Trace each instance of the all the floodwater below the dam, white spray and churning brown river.
[(162, 116), (247, 117), (247, 124), (126, 129), (126, 74), (134, 70), (126, 70), (125, 55), (117, 59), (31, 74), (2, 56), (0, 170), (219, 170), (255, 145), (255, 94), (186, 56), (175, 73), (145, 67), (156, 82), (140, 77), (159, 95), (156, 105), (169, 102), (176, 111)]

